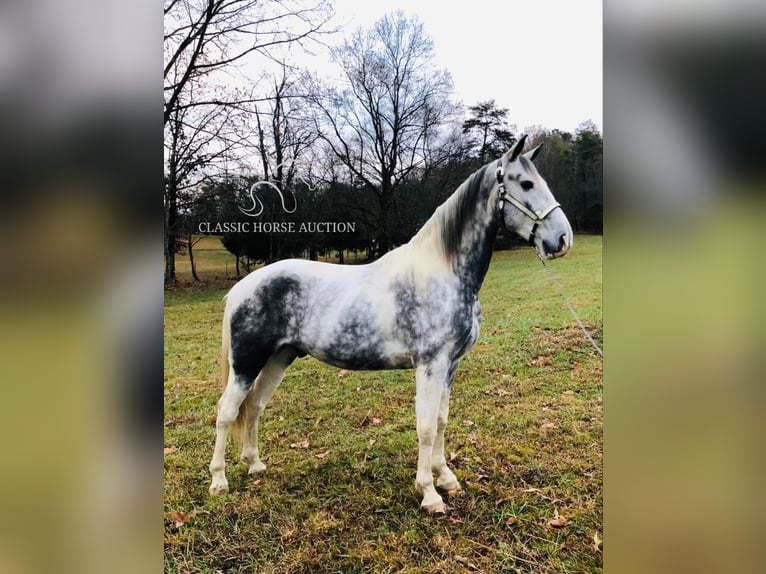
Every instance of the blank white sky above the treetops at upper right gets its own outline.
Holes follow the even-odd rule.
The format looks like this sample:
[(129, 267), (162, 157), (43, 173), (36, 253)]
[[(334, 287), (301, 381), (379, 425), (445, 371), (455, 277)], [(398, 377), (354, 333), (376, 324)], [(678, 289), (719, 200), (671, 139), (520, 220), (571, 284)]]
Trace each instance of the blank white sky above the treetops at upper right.
[[(335, 0), (340, 36), (387, 12), (416, 15), (466, 105), (494, 99), (518, 130), (602, 129), (601, 0)], [(339, 38), (340, 40), (340, 38)]]

